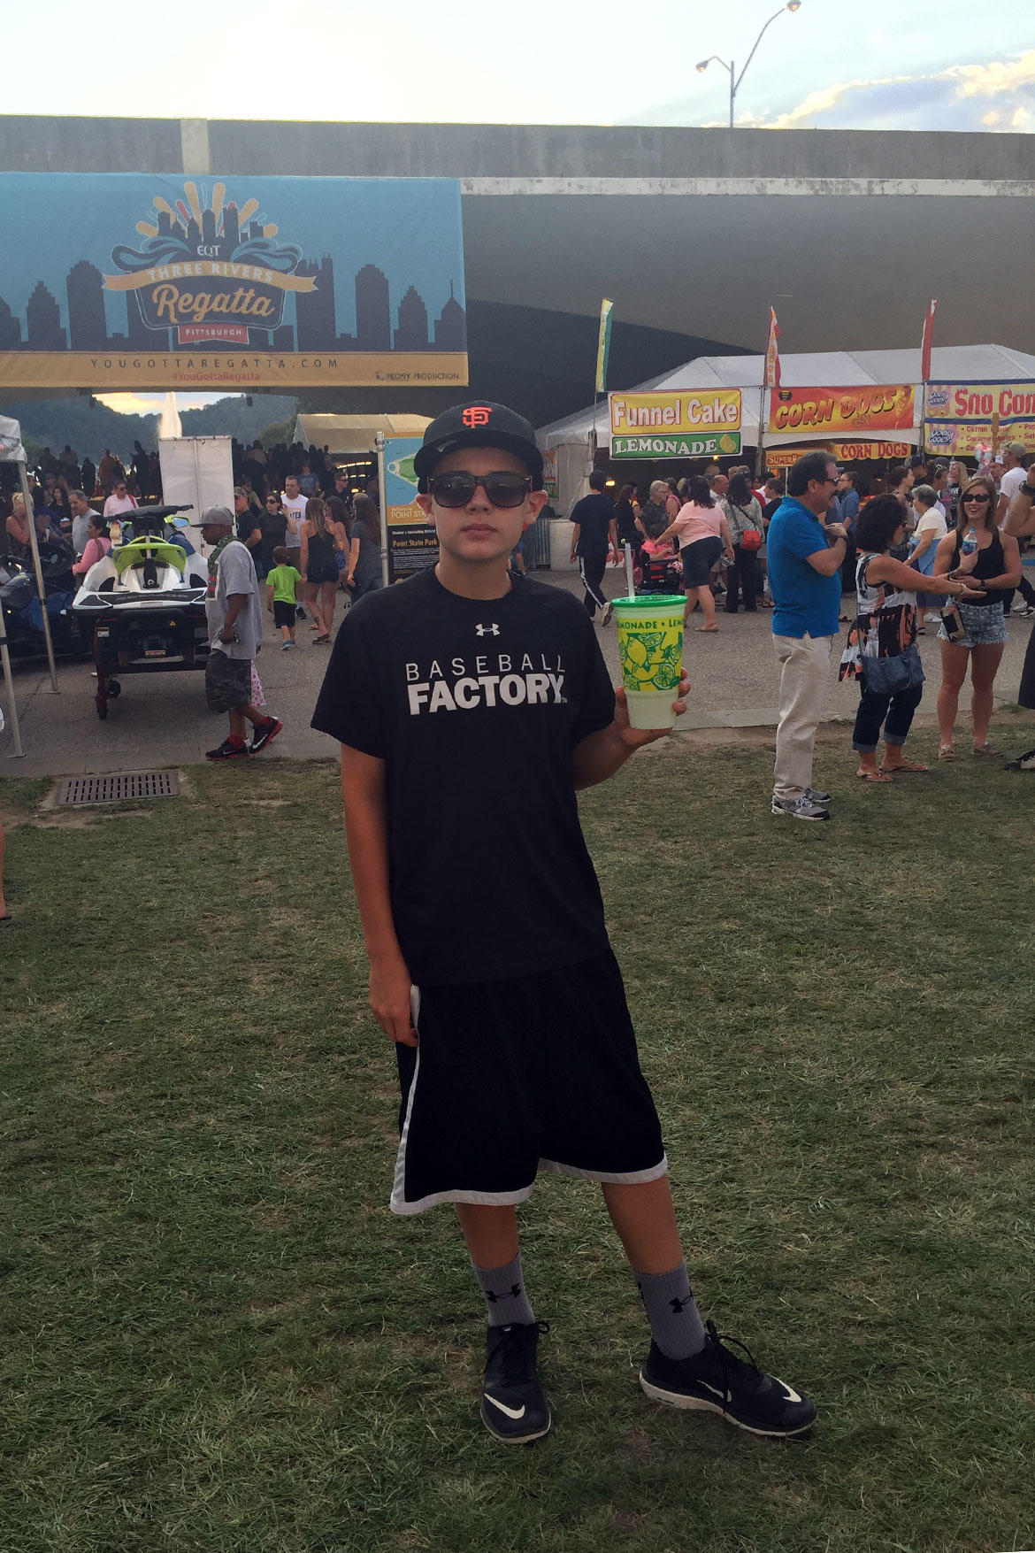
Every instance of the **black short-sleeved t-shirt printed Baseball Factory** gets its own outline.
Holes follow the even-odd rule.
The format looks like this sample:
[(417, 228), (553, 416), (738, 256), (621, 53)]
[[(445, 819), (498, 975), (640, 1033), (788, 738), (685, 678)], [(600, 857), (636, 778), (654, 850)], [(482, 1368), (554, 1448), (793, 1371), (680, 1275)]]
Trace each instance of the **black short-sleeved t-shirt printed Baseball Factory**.
[(312, 725), (385, 761), (391, 910), (416, 985), (495, 981), (607, 947), (571, 752), (614, 691), (571, 595), (434, 570), (354, 604)]

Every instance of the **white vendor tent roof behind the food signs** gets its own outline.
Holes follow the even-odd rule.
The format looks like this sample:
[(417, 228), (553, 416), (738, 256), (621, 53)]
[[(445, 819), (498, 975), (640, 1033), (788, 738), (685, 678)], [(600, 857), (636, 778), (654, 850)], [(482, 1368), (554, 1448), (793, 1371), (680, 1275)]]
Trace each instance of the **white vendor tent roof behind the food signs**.
[[(765, 359), (762, 356), (698, 356), (670, 373), (636, 384), (628, 393), (649, 390), (675, 391), (683, 388), (740, 388), (743, 391), (740, 415), (742, 447), (759, 446), (759, 415), (765, 390), (760, 387)], [(945, 345), (931, 351), (931, 382), (1002, 382), (1035, 380), (1035, 356), (1012, 351), (1004, 345)], [(920, 349), (902, 351), (807, 351), (802, 354), (781, 353), (781, 384), (785, 388), (852, 388), (866, 384), (914, 384), (917, 388), (917, 424), (912, 432), (866, 432), (866, 441), (919, 443), (920, 439)], [(543, 450), (557, 450), (557, 485), (560, 511), (566, 512), (571, 502), (583, 494), (582, 481), (593, 467), (590, 435), (596, 433), (596, 446), (607, 447), (610, 419), (607, 399), (588, 405), (577, 415), (565, 416), (537, 432)], [(801, 429), (794, 432), (765, 432), (763, 447), (808, 441)]]

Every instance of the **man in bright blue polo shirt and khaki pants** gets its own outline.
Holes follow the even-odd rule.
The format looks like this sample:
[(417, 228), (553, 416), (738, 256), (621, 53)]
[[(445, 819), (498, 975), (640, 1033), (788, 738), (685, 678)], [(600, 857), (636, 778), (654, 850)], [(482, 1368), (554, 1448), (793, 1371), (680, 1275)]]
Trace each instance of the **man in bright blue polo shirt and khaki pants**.
[(812, 756), (841, 604), (844, 526), (822, 522), (836, 483), (838, 466), (829, 453), (804, 453), (787, 477), (787, 497), (767, 534), (773, 643), (781, 662), (773, 814), (794, 820), (830, 818), (830, 794), (812, 786)]

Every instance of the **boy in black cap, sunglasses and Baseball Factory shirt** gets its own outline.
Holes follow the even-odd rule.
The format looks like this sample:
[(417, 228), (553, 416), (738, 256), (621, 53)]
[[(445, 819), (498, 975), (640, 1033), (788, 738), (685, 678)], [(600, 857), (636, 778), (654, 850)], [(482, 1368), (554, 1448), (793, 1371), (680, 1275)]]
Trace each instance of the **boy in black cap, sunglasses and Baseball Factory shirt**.
[(369, 1003), (399, 1059), (391, 1207), (456, 1205), (489, 1309), (481, 1418), (498, 1440), (551, 1423), (515, 1216), (540, 1165), (602, 1183), (650, 1322), (644, 1391), (801, 1433), (813, 1404), (697, 1312), (579, 826), (576, 790), (664, 735), (630, 728), (579, 601), (507, 570), (546, 500), (529, 422), (456, 405), (414, 469), (438, 565), (349, 610), (313, 714), (341, 742)]

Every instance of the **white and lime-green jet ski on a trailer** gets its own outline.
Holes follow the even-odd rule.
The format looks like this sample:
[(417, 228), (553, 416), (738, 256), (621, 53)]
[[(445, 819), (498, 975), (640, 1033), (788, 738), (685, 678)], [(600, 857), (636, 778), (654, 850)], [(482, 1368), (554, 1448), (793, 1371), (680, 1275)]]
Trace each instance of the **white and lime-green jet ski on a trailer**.
[(189, 506), (138, 506), (126, 514), (132, 539), (113, 545), (82, 578), (71, 609), (93, 629), (98, 717), (121, 694), (113, 676), (203, 669), (208, 660), (208, 565), (166, 539), (186, 526)]

